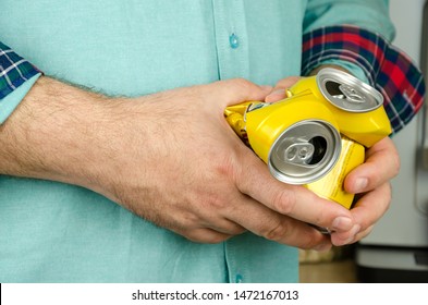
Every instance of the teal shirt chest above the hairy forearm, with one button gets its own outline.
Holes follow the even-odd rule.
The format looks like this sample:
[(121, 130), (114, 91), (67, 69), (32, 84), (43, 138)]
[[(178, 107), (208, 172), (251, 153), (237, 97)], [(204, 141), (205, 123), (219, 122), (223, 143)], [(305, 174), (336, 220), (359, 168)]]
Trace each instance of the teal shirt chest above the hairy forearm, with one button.
[(274, 84), (299, 72), (302, 34), (288, 24), (302, 21), (302, 4), (285, 10), (281, 1), (39, 2), (28, 1), (23, 12), (11, 1), (0, 12), (1, 39), (46, 74), (108, 94), (233, 77)]

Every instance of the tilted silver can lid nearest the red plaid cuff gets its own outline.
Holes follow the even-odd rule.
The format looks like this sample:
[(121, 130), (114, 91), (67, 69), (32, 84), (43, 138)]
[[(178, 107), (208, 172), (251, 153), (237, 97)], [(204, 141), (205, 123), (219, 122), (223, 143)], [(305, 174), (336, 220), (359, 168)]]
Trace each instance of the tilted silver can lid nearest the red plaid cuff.
[(325, 98), (342, 110), (368, 112), (383, 103), (383, 96), (377, 89), (343, 71), (325, 68), (316, 80)]

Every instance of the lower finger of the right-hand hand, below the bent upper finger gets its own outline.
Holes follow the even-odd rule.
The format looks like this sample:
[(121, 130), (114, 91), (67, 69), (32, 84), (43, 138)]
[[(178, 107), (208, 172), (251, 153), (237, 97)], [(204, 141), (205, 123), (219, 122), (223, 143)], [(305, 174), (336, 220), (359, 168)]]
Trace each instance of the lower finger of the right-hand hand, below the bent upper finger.
[[(345, 245), (365, 236), (370, 228), (386, 213), (391, 203), (391, 186), (384, 183), (380, 187), (365, 194), (351, 209), (355, 225), (348, 232), (334, 232), (332, 243)], [(365, 233), (364, 233), (365, 232)]]

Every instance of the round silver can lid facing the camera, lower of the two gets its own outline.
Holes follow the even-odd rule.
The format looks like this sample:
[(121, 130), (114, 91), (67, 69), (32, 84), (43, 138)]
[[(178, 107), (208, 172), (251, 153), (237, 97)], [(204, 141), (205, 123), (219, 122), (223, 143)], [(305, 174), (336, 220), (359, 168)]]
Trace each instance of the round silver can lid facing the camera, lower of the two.
[(289, 184), (307, 184), (327, 174), (342, 149), (339, 131), (321, 120), (304, 120), (288, 127), (269, 151), (271, 174)]

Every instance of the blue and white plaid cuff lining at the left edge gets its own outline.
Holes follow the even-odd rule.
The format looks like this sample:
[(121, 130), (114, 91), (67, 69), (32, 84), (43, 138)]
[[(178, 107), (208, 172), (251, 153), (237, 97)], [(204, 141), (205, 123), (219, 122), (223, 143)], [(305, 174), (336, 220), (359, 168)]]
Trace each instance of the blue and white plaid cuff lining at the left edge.
[(34, 65), (0, 42), (0, 102), (38, 73)]

